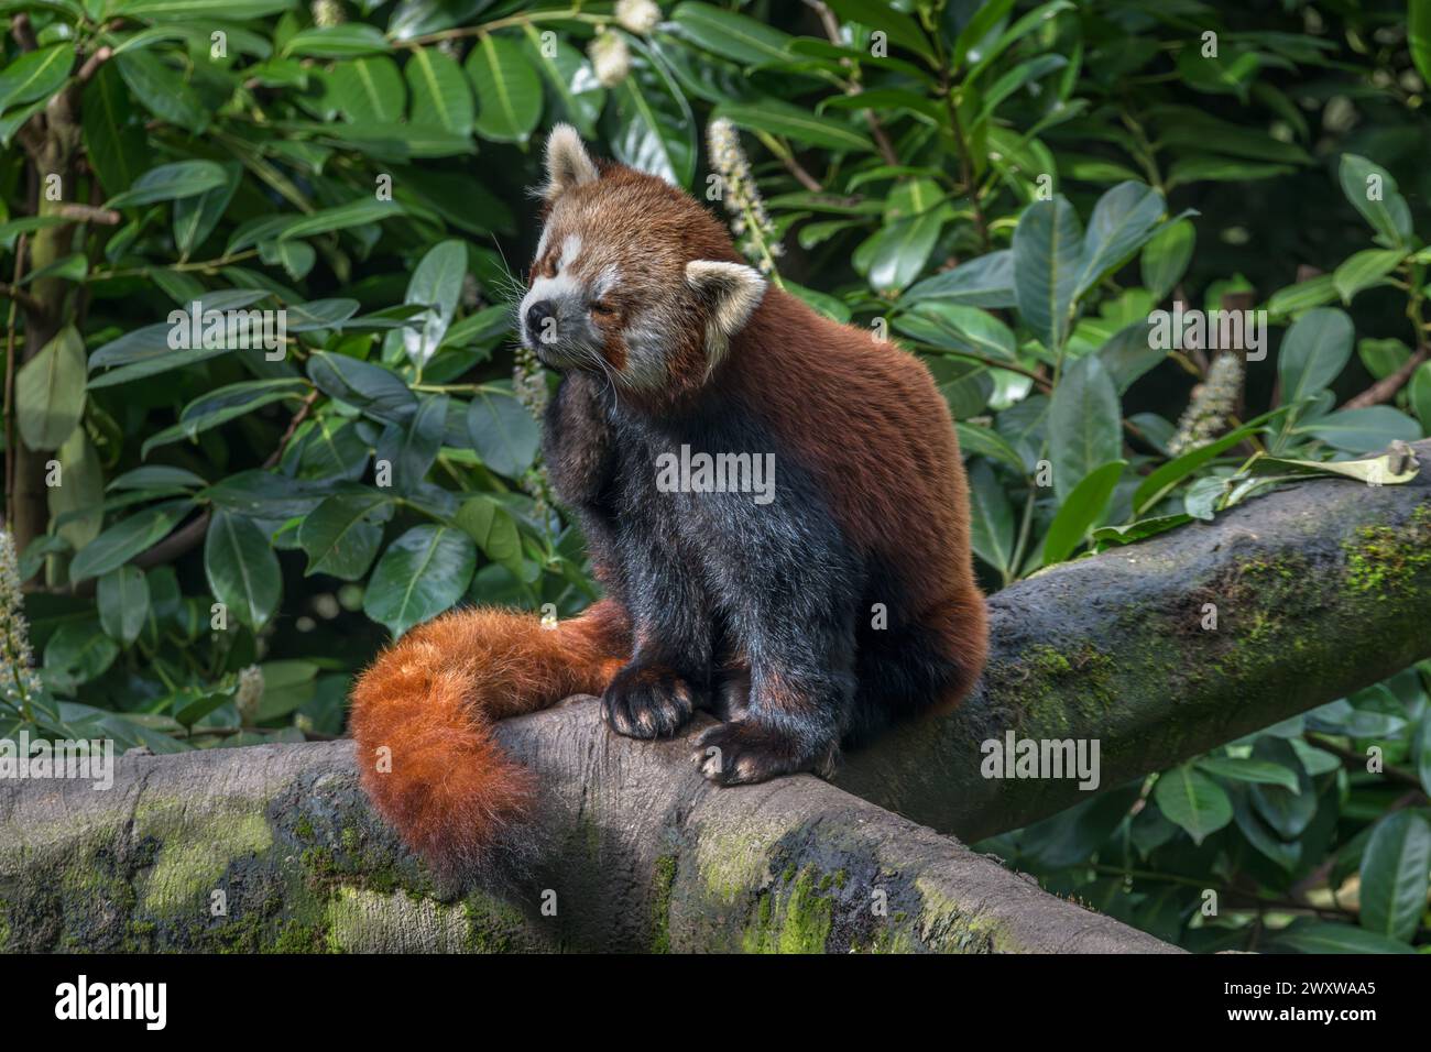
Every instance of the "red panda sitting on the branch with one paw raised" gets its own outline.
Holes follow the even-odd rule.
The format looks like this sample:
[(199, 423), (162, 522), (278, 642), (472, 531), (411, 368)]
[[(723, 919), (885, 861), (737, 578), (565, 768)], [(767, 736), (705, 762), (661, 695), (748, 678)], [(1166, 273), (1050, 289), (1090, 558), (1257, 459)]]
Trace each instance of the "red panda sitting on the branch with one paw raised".
[[(829, 771), (841, 743), (957, 704), (987, 648), (967, 482), (929, 371), (767, 282), (695, 200), (592, 160), (571, 127), (545, 160), (517, 325), (564, 374), (544, 454), (605, 598), (554, 628), (451, 611), (352, 693), (366, 792), (448, 870), (525, 817), (531, 774), (495, 720), (591, 693), (612, 731), (650, 739), (707, 708), (723, 721), (694, 763), (761, 781)], [(673, 458), (703, 454), (768, 465), (767, 488), (670, 484)]]

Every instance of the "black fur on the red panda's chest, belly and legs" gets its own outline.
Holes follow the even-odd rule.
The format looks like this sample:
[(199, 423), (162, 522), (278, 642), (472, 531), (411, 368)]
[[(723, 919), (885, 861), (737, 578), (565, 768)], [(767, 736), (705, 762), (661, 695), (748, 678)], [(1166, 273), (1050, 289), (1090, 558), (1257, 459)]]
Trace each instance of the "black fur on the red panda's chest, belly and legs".
[[(658, 458), (683, 445), (693, 457), (773, 454), (770, 501), (664, 492)], [(574, 376), (548, 411), (545, 451), (602, 584), (631, 617), (635, 653), (602, 700), (615, 730), (674, 734), (710, 708), (728, 723), (701, 739), (698, 761), (718, 764), (720, 780), (756, 781), (827, 770), (841, 741), (957, 683), (957, 656), (904, 600), (919, 568), (851, 544), (816, 479), (743, 406), (708, 399), (657, 424)]]

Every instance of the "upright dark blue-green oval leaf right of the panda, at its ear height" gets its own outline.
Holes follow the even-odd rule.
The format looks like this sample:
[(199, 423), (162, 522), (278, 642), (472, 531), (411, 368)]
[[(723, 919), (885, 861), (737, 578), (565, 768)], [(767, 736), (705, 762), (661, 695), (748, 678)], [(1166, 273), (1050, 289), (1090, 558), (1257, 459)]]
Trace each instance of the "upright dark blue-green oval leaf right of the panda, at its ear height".
[[(1083, 259), (1082, 236), (1073, 206), (1062, 196), (1029, 205), (1013, 232), (1019, 313), (1050, 354), (1058, 354), (1069, 333)], [(1099, 464), (1110, 459), (1105, 457)]]

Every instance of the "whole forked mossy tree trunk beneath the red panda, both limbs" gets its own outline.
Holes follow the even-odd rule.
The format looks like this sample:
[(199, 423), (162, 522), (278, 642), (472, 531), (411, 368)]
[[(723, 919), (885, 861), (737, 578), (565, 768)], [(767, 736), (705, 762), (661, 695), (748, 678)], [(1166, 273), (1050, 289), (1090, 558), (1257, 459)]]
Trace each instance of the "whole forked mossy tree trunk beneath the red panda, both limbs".
[(979, 691), (850, 756), (856, 796), (713, 789), (687, 759), (698, 727), (614, 737), (591, 698), (504, 723), (547, 840), (501, 886), (435, 883), (345, 741), (127, 757), (110, 792), (0, 783), (0, 948), (1171, 949), (876, 803), (982, 837), (1083, 796), (983, 779), (986, 739), (1096, 737), (1108, 789), (1427, 657), (1431, 485), (1308, 481), (990, 607)]

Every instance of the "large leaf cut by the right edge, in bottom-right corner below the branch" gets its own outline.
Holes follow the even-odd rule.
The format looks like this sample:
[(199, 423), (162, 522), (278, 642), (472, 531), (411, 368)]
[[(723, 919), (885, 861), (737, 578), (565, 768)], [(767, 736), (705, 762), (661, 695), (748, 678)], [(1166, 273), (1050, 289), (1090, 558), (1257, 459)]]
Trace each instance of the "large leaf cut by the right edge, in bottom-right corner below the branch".
[(1410, 810), (1378, 822), (1361, 859), (1361, 926), (1411, 942), (1427, 909), (1428, 875), (1431, 824)]

